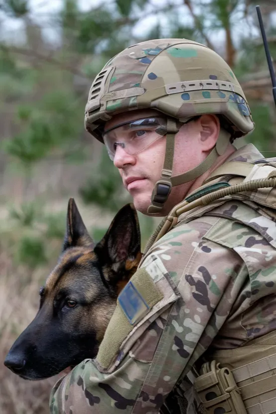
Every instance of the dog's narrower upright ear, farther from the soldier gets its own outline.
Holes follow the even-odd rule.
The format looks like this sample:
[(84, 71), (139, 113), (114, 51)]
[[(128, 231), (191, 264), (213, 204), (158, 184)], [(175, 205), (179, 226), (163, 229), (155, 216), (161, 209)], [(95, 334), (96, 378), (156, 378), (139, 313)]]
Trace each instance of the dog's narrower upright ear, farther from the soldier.
[(90, 247), (93, 249), (94, 242), (84, 225), (75, 200), (70, 199), (67, 209), (67, 226), (63, 242), (63, 251), (75, 246)]

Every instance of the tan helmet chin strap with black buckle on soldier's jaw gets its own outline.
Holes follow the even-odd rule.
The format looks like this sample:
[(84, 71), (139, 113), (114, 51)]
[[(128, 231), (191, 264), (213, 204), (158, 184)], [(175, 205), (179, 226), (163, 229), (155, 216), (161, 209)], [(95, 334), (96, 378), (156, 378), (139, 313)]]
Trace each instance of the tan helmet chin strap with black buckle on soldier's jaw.
[(174, 155), (174, 139), (177, 132), (178, 128), (176, 126), (176, 121), (168, 119), (164, 165), (162, 168), (161, 178), (155, 183), (152, 191), (151, 205), (147, 209), (147, 214), (156, 214), (162, 211), (164, 204), (170, 195), (172, 187), (180, 186), (181, 184), (195, 180), (209, 170), (218, 157), (224, 154), (231, 137), (229, 132), (221, 128), (215, 147), (204, 161), (186, 173), (171, 177)]

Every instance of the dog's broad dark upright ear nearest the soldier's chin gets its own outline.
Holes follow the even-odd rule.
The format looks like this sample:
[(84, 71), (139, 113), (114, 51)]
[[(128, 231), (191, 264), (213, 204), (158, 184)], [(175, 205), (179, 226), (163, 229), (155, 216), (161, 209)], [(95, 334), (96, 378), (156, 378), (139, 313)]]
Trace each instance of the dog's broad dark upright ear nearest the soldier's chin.
[(103, 273), (107, 281), (113, 285), (120, 282), (122, 285), (123, 281), (127, 283), (136, 272), (141, 259), (140, 250), (138, 215), (134, 205), (127, 204), (117, 213), (94, 249), (100, 265), (106, 269)]

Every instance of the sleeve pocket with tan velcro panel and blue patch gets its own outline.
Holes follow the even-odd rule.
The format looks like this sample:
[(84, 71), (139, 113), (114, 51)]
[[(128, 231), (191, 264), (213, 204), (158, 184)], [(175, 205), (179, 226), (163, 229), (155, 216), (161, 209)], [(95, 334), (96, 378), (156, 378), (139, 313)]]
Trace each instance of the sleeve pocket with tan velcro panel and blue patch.
[[(158, 260), (154, 261), (155, 267), (158, 266)], [(165, 318), (166, 309), (178, 298), (180, 294), (168, 274), (153, 281), (145, 268), (138, 269), (118, 297), (117, 307), (95, 361), (98, 369), (101, 372), (113, 372), (132, 347), (136, 355), (142, 355), (140, 345), (142, 342), (142, 347), (147, 348), (147, 328), (159, 315)], [(152, 357), (154, 351), (155, 347)]]

